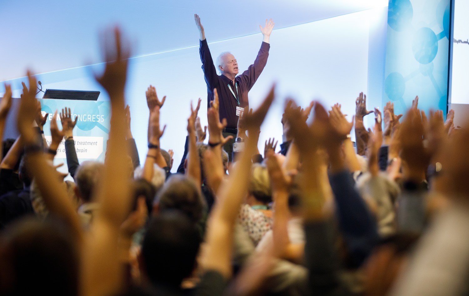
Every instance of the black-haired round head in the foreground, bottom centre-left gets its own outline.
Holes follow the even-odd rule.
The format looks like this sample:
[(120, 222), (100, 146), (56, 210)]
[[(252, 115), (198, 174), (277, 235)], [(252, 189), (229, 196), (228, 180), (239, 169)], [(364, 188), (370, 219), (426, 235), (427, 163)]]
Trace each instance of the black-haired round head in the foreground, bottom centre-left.
[(154, 285), (178, 289), (196, 266), (200, 243), (199, 231), (186, 215), (164, 211), (151, 219), (145, 233), (140, 268)]

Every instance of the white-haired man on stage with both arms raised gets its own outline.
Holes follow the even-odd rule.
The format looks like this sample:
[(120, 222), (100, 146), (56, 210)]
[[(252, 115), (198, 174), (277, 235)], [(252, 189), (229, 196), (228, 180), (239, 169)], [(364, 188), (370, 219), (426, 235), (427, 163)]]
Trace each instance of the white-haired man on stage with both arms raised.
[[(257, 53), (256, 60), (241, 75), (238, 75), (238, 62), (230, 52), (222, 52), (213, 64), (212, 55), (205, 39), (205, 31), (200, 17), (194, 15), (197, 29), (200, 33), (200, 59), (202, 60), (202, 70), (204, 70), (205, 82), (207, 83), (207, 106), (213, 100), (213, 89), (217, 89), (219, 96), (220, 118), (227, 118), (227, 126), (223, 135), (232, 135), (233, 139), (237, 134), (237, 124), (240, 112), (249, 106), (248, 92), (256, 82), (267, 63), (269, 56), (269, 38), (272, 33), (274, 22), (265, 20), (265, 27), (259, 25), (264, 36), (261, 48)], [(221, 75), (217, 74), (217, 69)], [(227, 151), (229, 159), (232, 159), (233, 141), (228, 142), (224, 149)], [(212, 143), (215, 144), (215, 143)]]

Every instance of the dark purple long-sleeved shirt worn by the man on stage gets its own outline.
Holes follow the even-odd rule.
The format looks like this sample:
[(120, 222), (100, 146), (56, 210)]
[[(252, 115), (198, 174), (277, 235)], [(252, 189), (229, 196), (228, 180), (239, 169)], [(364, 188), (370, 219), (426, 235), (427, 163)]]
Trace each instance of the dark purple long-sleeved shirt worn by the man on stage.
[[(236, 76), (234, 81), (238, 84), (239, 102), (242, 108), (249, 106), (248, 92), (259, 78), (264, 70), (267, 58), (269, 57), (270, 44), (262, 42), (261, 48), (257, 53), (256, 60), (241, 75)], [(238, 103), (231, 93), (228, 85), (231, 86), (236, 95), (236, 87), (227, 76), (218, 75), (217, 67), (213, 65), (212, 55), (208, 48), (207, 39), (200, 41), (200, 59), (202, 60), (202, 70), (204, 70), (205, 82), (207, 83), (207, 107), (210, 107), (210, 101), (213, 100), (213, 89), (217, 89), (220, 101), (220, 119), (227, 118), (227, 128), (236, 128), (238, 125), (238, 116), (236, 116), (236, 106)]]

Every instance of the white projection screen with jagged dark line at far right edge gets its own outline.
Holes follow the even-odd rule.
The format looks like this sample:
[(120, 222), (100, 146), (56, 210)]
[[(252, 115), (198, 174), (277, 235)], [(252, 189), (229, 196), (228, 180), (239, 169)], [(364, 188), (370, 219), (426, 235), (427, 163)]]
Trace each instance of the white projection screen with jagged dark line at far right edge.
[(469, 1), (454, 0), (451, 104), (469, 104)]

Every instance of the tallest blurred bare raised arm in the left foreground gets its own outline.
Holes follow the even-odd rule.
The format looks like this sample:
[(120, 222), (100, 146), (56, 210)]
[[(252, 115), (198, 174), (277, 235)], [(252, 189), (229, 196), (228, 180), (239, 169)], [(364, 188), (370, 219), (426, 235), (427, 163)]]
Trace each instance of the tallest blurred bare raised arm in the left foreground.
[[(124, 268), (119, 260), (119, 229), (129, 214), (130, 178), (125, 142), (124, 89), (127, 79), (129, 48), (121, 42), (120, 30), (114, 30), (115, 47), (105, 46), (106, 68), (96, 77), (111, 102), (110, 137), (107, 157), (96, 201), (99, 211), (91, 225), (90, 241), (83, 259), (83, 294), (111, 295), (121, 291)], [(109, 32), (110, 34), (110, 32)], [(106, 274), (106, 276), (102, 276)]]

